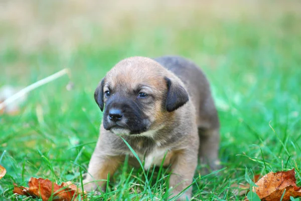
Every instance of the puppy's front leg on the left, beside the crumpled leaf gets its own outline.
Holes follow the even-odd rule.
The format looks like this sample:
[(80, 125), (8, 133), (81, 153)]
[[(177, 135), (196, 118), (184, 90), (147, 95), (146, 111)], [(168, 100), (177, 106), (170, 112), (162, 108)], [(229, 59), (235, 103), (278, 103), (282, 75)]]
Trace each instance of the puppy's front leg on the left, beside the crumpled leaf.
[(86, 191), (105, 191), (107, 175), (114, 174), (122, 161), (121, 156), (108, 156), (99, 153), (93, 153), (86, 179), (83, 181)]

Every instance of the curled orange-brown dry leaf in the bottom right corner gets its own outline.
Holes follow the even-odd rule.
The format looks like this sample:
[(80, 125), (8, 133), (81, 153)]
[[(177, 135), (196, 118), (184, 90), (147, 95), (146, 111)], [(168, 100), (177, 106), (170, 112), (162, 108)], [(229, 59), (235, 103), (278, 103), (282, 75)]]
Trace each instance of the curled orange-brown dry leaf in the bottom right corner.
[(294, 169), (269, 172), (255, 184), (258, 187), (253, 187), (252, 191), (256, 192), (262, 201), (280, 200), (282, 195), (282, 201), (289, 201), (289, 196), (301, 196), (301, 187), (296, 186)]

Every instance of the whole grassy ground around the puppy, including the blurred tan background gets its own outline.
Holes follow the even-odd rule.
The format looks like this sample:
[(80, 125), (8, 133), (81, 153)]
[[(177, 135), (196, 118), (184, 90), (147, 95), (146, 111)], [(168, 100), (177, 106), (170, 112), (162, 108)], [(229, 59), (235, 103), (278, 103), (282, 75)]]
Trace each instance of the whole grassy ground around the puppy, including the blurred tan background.
[[(20, 114), (0, 116), (0, 164), (8, 171), (0, 200), (22, 200), (12, 184), (27, 185), (31, 176), (81, 180), (101, 120), (94, 89), (115, 63), (134, 55), (188, 57), (211, 81), (225, 169), (196, 174), (196, 200), (241, 200), (231, 185), (246, 183), (246, 168), (250, 177), (295, 168), (301, 185), (301, 5), (222, 4), (2, 3), (0, 85), (26, 86), (68, 67), (74, 89), (60, 78), (31, 92)], [(121, 167), (101, 196), (160, 200), (167, 182), (160, 174), (150, 194), (141, 170)]]

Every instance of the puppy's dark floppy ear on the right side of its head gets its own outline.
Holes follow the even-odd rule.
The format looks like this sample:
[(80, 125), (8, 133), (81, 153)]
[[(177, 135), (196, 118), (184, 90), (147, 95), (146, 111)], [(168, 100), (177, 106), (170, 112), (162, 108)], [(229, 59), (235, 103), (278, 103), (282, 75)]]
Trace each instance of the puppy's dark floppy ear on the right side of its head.
[(179, 107), (183, 106), (188, 100), (187, 91), (179, 84), (173, 83), (169, 78), (164, 77), (167, 83), (167, 98), (166, 98), (166, 110), (168, 112), (175, 111)]

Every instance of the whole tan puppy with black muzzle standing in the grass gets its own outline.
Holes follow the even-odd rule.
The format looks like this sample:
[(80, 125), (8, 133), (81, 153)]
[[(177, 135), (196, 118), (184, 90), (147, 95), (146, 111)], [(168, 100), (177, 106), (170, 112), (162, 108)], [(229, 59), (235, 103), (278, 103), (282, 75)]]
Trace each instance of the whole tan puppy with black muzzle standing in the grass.
[[(171, 196), (193, 181), (198, 155), (211, 168), (218, 160), (219, 120), (207, 79), (181, 57), (155, 60), (131, 57), (115, 65), (97, 87), (95, 100), (104, 110), (100, 136), (91, 157), (85, 189), (103, 190), (129, 155), (137, 153), (144, 168), (171, 165)], [(180, 200), (191, 198), (191, 188)]]

